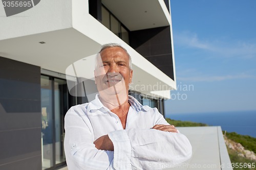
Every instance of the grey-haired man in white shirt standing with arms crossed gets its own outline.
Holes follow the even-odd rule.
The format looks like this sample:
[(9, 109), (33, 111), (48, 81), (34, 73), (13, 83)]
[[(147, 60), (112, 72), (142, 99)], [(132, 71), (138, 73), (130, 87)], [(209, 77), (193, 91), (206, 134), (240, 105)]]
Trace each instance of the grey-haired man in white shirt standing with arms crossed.
[(101, 47), (96, 57), (99, 94), (70, 108), (65, 116), (65, 153), (69, 170), (162, 169), (191, 157), (188, 139), (156, 108), (128, 95), (131, 56), (119, 44)]

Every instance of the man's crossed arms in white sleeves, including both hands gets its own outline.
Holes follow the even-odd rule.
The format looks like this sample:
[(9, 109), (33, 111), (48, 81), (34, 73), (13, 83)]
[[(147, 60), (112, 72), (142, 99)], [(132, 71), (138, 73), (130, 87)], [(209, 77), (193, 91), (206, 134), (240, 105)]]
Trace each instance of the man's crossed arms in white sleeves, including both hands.
[(70, 169), (173, 167), (191, 156), (189, 140), (176, 133), (177, 129), (168, 125), (160, 113), (154, 116), (160, 117), (155, 119), (161, 125), (152, 125), (150, 129), (106, 130), (108, 135), (94, 140), (91, 120), (77, 112), (71, 109), (65, 117), (65, 154)]

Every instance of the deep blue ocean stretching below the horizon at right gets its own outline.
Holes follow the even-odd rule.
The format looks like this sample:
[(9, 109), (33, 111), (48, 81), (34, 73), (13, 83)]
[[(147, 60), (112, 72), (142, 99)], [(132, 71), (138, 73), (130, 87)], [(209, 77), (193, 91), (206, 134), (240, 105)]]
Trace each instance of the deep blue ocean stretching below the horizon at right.
[(209, 126), (221, 126), (227, 132), (256, 137), (256, 111), (230, 111), (212, 113), (179, 113), (166, 117), (175, 120), (204, 123)]

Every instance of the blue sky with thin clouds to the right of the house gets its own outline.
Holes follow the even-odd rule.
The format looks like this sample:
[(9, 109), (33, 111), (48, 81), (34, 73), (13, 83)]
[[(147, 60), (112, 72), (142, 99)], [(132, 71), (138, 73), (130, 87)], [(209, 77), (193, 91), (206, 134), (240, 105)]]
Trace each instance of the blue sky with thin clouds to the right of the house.
[(166, 116), (256, 110), (256, 1), (170, 3), (178, 90)]

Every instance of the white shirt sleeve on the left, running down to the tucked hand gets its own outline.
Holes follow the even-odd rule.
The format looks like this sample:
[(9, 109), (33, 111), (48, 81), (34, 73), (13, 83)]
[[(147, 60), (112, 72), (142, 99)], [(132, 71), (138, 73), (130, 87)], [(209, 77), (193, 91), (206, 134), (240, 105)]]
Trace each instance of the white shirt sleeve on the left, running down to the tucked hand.
[(70, 170), (114, 169), (114, 152), (95, 148), (93, 132), (85, 125), (90, 125), (89, 119), (82, 118), (72, 108), (67, 112), (64, 147), (68, 168)]

